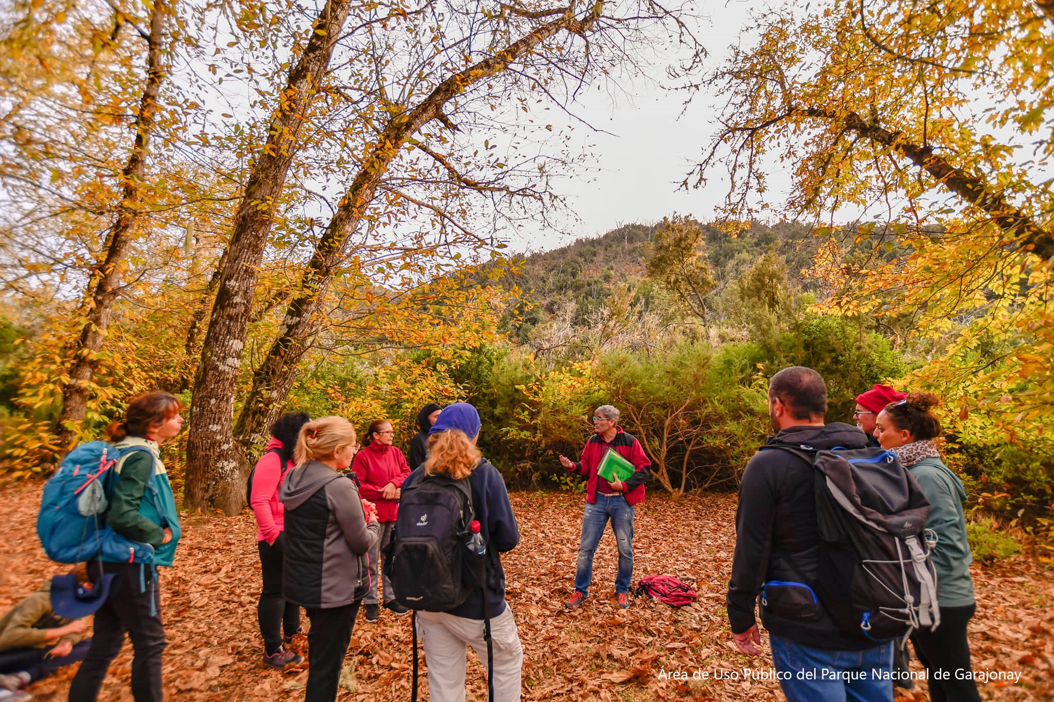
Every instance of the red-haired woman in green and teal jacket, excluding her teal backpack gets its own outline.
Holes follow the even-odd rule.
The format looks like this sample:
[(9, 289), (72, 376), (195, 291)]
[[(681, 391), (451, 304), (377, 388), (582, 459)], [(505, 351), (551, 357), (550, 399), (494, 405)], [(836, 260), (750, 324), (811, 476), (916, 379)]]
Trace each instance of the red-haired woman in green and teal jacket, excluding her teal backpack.
[(163, 699), (161, 651), (161, 591), (157, 566), (171, 566), (179, 543), (179, 515), (158, 446), (179, 434), (182, 403), (173, 395), (154, 390), (132, 399), (123, 422), (106, 427), (106, 439), (121, 450), (114, 466), (106, 521), (120, 536), (143, 544), (131, 562), (103, 557), (89, 563), (89, 577), (117, 577), (110, 597), (95, 613), (92, 645), (70, 686), (71, 702), (94, 701), (111, 661), (132, 639), (132, 696), (136, 702)]

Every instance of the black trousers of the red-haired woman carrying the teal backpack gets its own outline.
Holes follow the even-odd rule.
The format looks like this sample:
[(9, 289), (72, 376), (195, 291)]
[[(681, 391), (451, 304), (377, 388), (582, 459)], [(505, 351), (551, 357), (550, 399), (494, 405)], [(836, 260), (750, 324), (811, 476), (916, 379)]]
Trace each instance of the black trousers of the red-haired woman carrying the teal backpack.
[(93, 623), (92, 645), (70, 685), (70, 702), (94, 702), (111, 661), (132, 639), (132, 697), (136, 702), (161, 702), (161, 651), (167, 645), (161, 625), (161, 590), (155, 569), (139, 563), (99, 563), (87, 566), (93, 580), (113, 573), (110, 597)]

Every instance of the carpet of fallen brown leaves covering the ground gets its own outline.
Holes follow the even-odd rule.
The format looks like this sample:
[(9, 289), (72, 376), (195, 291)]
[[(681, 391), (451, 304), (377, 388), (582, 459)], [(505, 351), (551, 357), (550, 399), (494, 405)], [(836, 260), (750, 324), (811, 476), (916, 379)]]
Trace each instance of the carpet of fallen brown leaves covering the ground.
[[(0, 610), (59, 571), (35, 533), (39, 483), (0, 488)], [(697, 582), (697, 602), (682, 609), (636, 600), (614, 603), (617, 551), (608, 531), (593, 568), (589, 600), (561, 605), (574, 578), (582, 503), (570, 494), (512, 496), (523, 539), (504, 558), (508, 597), (524, 644), (528, 700), (782, 700), (772, 682), (746, 681), (743, 668), (768, 668), (767, 656), (749, 659), (733, 648), (724, 590), (735, 541), (735, 498), (707, 495), (677, 502), (651, 497), (638, 507), (636, 575), (668, 573)], [(190, 516), (176, 566), (162, 570), (165, 693), (173, 700), (299, 700), (306, 670), (280, 673), (260, 663), (256, 626), (259, 564), (249, 513), (236, 518)], [(975, 668), (1020, 670), (1017, 685), (981, 685), (985, 700), (1054, 699), (1054, 573), (1019, 558), (974, 566), (978, 615), (971, 624)], [(305, 620), (306, 621), (306, 620)], [(302, 642), (301, 642), (302, 644)], [(767, 642), (764, 647), (767, 649)], [(486, 699), (483, 669), (469, 654), (469, 699)], [(100, 699), (131, 700), (131, 645), (111, 666)], [(376, 624), (362, 617), (346, 661), (341, 700), (406, 700), (410, 686), (410, 619), (382, 610)], [(917, 666), (917, 663), (913, 663)], [(687, 682), (662, 671), (684, 671)], [(708, 680), (691, 680), (696, 670)], [(31, 691), (64, 699), (74, 669)], [(740, 679), (733, 678), (738, 673)], [(715, 680), (717, 675), (727, 679)], [(422, 698), (427, 699), (422, 679)], [(898, 702), (925, 700), (922, 691)]]

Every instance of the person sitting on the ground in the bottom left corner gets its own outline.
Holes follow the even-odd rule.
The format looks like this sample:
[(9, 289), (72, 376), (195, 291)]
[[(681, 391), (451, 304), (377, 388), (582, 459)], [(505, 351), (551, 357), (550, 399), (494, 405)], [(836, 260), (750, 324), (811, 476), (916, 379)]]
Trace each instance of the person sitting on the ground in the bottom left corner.
[(0, 618), (0, 700), (27, 700), (19, 688), (84, 660), (92, 640), (83, 638), (87, 622), (81, 618), (102, 605), (112, 578), (93, 587), (81, 563), (46, 580)]

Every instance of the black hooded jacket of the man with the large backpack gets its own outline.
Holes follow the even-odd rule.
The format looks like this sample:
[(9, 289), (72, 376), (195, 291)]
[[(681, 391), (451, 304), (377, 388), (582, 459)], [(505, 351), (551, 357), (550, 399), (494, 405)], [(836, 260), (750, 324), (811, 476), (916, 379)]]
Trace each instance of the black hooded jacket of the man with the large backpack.
[[(766, 443), (802, 444), (817, 449), (863, 448), (867, 437), (856, 426), (792, 426)], [(746, 464), (736, 510), (736, 554), (728, 581), (728, 621), (734, 634), (755, 624), (754, 604), (766, 582), (818, 587), (820, 533), (816, 518), (814, 470), (804, 459), (781, 449), (764, 449)], [(780, 617), (761, 607), (770, 634), (827, 650), (863, 650), (879, 645), (862, 635), (843, 631), (824, 609), (813, 620)], [(786, 613), (784, 613), (786, 614)]]

